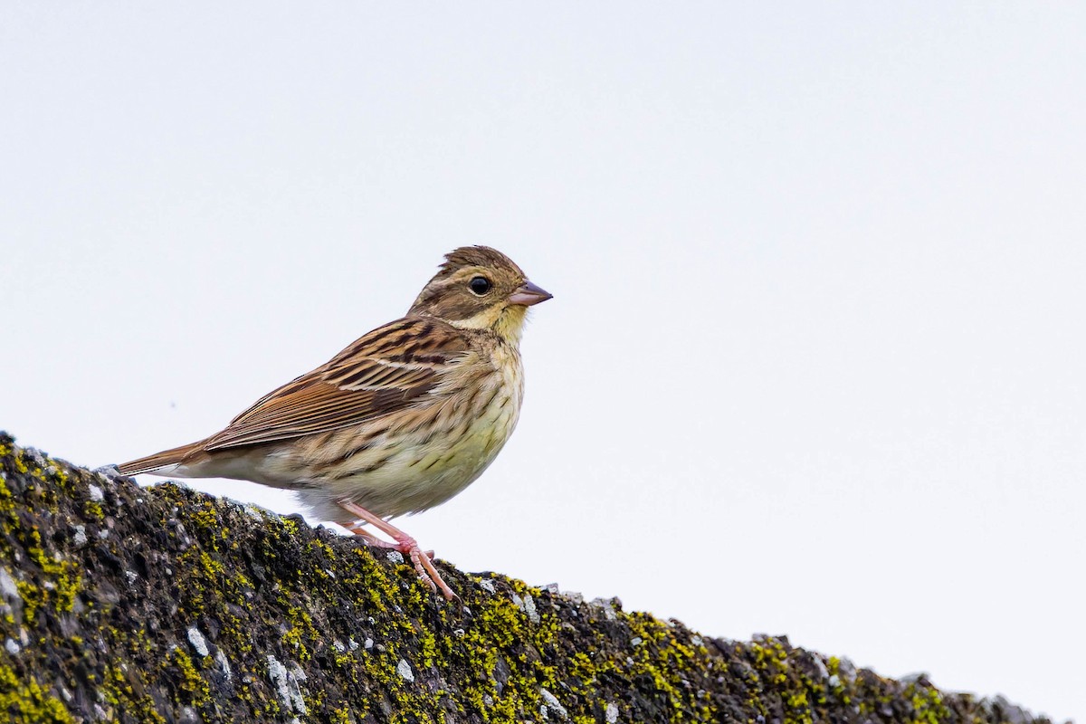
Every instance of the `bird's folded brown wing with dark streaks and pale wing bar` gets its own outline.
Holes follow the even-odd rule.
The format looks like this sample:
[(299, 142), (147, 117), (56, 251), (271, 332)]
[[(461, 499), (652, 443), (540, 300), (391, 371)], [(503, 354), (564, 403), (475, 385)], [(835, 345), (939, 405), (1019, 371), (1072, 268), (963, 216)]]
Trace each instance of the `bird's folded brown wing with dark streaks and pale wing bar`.
[(405, 317), (265, 395), (207, 440), (220, 450), (339, 430), (421, 402), (469, 351), (454, 327)]

